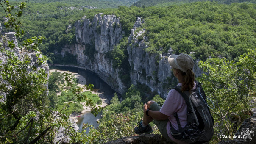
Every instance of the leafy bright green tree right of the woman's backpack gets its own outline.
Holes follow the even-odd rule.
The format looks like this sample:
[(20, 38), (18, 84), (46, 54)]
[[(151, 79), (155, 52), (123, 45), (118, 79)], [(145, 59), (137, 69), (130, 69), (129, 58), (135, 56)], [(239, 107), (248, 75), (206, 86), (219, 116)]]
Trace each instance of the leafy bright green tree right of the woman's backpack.
[(250, 116), (251, 100), (256, 89), (256, 49), (248, 51), (237, 62), (226, 58), (200, 62), (200, 67), (207, 74), (203, 74), (198, 81), (203, 83), (206, 96), (215, 105), (212, 110), (215, 133), (234, 135), (244, 119)]

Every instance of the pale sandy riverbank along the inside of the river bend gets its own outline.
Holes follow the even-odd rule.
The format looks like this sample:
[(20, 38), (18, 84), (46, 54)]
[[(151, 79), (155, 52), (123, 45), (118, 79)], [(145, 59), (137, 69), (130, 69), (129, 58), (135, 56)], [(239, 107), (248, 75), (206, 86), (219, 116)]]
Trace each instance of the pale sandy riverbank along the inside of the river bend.
[[(60, 65), (60, 66), (62, 66), (62, 65)], [(71, 67), (76, 67), (76, 66), (71, 66)], [(67, 73), (72, 74), (74, 76), (74, 78), (78, 79), (78, 86), (80, 86), (80, 87), (83, 87), (86, 84), (86, 79), (82, 75), (79, 75), (78, 73), (68, 72), (68, 71), (64, 71), (64, 70), (57, 70), (57, 69), (50, 70), (50, 72), (54, 72), (54, 71), (61, 72), (61, 73), (67, 72)], [(85, 89), (84, 91), (90, 91), (90, 90)], [(100, 106), (100, 107), (104, 108), (109, 104), (109, 100), (105, 97), (105, 95), (103, 93), (99, 93), (99, 92), (95, 92), (95, 91), (90, 91), (90, 92), (92, 92), (92, 94), (97, 94), (100, 97), (100, 99), (102, 100), (101, 105), (96, 105), (97, 107)], [(60, 95), (60, 94), (61, 94), (61, 92), (59, 92), (57, 95)], [(91, 111), (90, 107), (86, 106), (86, 102), (81, 102), (81, 104), (83, 105), (84, 110), (81, 112), (81, 114), (77, 114), (77, 113), (71, 114), (70, 115), (71, 119), (75, 119), (75, 121), (77, 121), (77, 118), (78, 118), (77, 116), (80, 116), (87, 111)]]

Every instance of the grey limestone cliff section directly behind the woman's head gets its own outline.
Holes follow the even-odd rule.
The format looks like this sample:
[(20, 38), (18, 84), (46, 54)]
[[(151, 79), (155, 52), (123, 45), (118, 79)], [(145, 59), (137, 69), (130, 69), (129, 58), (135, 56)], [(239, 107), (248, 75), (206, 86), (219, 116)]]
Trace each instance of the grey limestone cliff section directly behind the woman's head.
[[(128, 38), (130, 43), (127, 47), (129, 54), (129, 63), (131, 65), (131, 83), (136, 85), (137, 82), (146, 84), (152, 91), (157, 91), (162, 97), (167, 97), (168, 87), (171, 81), (177, 83), (168, 64), (168, 56), (172, 54), (172, 49), (167, 53), (150, 53), (145, 49), (148, 47), (145, 29), (136, 31), (144, 22), (137, 17), (137, 21), (131, 29), (131, 35)], [(195, 75), (201, 75), (201, 69), (198, 67), (198, 61), (195, 61)]]

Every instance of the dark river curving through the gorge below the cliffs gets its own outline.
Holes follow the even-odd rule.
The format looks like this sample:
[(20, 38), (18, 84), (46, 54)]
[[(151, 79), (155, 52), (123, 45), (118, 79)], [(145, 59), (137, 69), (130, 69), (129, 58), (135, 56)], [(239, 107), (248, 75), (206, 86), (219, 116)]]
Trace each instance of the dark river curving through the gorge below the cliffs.
[[(105, 83), (97, 74), (94, 72), (91, 72), (86, 69), (81, 69), (77, 67), (69, 67), (69, 66), (49, 66), (50, 69), (58, 69), (58, 70), (64, 70), (69, 72), (78, 73), (79, 75), (82, 75), (86, 80), (86, 85), (93, 84), (95, 89), (99, 89), (99, 93), (104, 93), (105, 97), (110, 101), (112, 97), (114, 96), (115, 91), (111, 89), (111, 87)], [(83, 123), (90, 123), (90, 125), (93, 125), (95, 128), (97, 128), (99, 125), (96, 122), (97, 119), (100, 119), (100, 115), (102, 115), (102, 112), (100, 112), (96, 117), (91, 114), (90, 111), (85, 112), (81, 115), (81, 117), (78, 117), (78, 122), (76, 124), (78, 125), (79, 129), (82, 129)], [(88, 130), (86, 130), (86, 133)]]

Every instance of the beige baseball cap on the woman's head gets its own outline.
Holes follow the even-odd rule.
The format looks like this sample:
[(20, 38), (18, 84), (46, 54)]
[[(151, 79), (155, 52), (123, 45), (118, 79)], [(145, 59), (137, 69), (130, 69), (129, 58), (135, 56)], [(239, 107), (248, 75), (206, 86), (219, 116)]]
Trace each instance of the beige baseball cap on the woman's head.
[(179, 55), (170, 55), (168, 57), (168, 63), (175, 69), (180, 69), (182, 72), (186, 72), (188, 69), (193, 69), (194, 61), (190, 55), (181, 53)]

